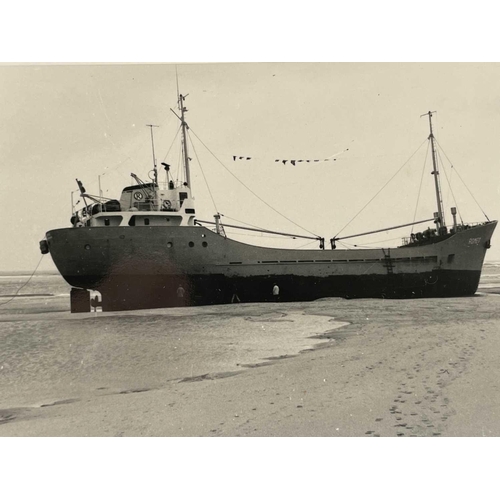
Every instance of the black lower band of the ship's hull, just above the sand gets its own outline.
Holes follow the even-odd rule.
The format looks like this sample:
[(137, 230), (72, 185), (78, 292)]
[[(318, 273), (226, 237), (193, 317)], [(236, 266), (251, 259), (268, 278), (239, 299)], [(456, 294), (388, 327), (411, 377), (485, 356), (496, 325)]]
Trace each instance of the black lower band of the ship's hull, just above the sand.
[[(272, 302), (274, 283), (281, 302), (311, 301), (325, 297), (411, 299), (474, 295), (478, 271), (435, 271), (421, 274), (330, 276), (253, 276), (228, 278), (223, 275), (122, 276), (108, 278), (98, 288), (103, 311), (159, 307), (229, 304), (231, 302)], [(71, 281), (78, 282), (78, 277)], [(182, 285), (183, 297), (177, 296)], [(80, 281), (86, 288), (85, 280)]]

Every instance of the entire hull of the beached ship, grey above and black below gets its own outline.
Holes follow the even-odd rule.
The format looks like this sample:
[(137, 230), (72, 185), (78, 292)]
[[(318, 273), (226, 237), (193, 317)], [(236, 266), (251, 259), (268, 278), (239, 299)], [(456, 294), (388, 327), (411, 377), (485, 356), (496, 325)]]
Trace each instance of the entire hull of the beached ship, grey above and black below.
[(473, 295), (495, 227), (491, 222), (436, 243), (366, 250), (256, 247), (200, 226), (68, 228), (49, 231), (47, 241), (65, 280), (99, 291), (103, 310), (112, 311)]

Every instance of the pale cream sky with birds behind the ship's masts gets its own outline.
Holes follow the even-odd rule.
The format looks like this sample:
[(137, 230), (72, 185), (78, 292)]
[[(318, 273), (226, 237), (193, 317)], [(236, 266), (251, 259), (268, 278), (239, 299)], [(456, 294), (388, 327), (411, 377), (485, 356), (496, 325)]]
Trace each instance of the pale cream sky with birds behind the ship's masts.
[[(267, 203), (327, 241), (423, 143), (340, 236), (412, 222), (429, 134), (427, 117), (420, 115), (429, 110), (437, 111), (435, 136), (455, 168), (450, 170), (441, 153), (440, 168), (451, 179), (463, 220), (478, 222), (484, 216), (456, 172), (488, 217), (499, 217), (499, 64), (245, 63), (177, 68), (181, 92), (189, 94), (186, 118), (195, 151), (217, 209), (227, 217), (308, 234), (243, 189), (193, 133)], [(176, 106), (174, 65), (4, 65), (0, 101), (0, 271), (32, 271), (45, 232), (69, 226), (75, 178), (87, 192), (97, 193), (101, 175), (104, 194), (119, 198), (130, 184), (130, 172), (147, 179), (151, 170), (145, 125), (160, 125), (155, 129), (158, 163), (164, 161), (178, 128), (169, 109)], [(215, 208), (190, 148), (197, 216), (212, 220)], [(274, 161), (336, 154), (335, 162), (292, 166)], [(252, 160), (234, 162), (233, 155)], [(178, 144), (166, 160), (175, 173)], [(431, 170), (428, 156), (416, 220), (436, 211)], [(455, 203), (444, 173), (441, 182), (450, 224)], [(235, 223), (227, 217), (223, 221)], [(254, 245), (307, 244), (227, 232)], [(409, 232), (406, 228), (346, 243), (396, 246)], [(487, 259), (500, 260), (498, 234)], [(50, 256), (44, 258), (41, 269), (53, 268)]]

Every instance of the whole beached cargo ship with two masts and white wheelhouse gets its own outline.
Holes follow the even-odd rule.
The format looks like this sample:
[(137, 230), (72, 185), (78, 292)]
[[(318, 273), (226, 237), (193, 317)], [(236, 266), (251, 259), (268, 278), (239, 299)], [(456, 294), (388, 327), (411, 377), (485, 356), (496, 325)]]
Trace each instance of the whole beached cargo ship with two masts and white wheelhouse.
[[(352, 236), (319, 236), (223, 224), (196, 217), (191, 196), (185, 96), (173, 111), (180, 121), (182, 181), (153, 175), (122, 190), (119, 199), (87, 194), (77, 179), (84, 208), (71, 227), (53, 229), (40, 242), (71, 288), (71, 311), (98, 300), (103, 311), (227, 304), (311, 301), (325, 297), (410, 299), (473, 295), (497, 221), (445, 223), (432, 113), (428, 112), (437, 211), (426, 220)], [(422, 115), (422, 116), (425, 116)], [(350, 237), (432, 222), (393, 248), (337, 248)], [(227, 237), (224, 227), (318, 240), (318, 249), (254, 246)], [(98, 292), (94, 294), (94, 292)], [(94, 296), (97, 298), (94, 299)]]

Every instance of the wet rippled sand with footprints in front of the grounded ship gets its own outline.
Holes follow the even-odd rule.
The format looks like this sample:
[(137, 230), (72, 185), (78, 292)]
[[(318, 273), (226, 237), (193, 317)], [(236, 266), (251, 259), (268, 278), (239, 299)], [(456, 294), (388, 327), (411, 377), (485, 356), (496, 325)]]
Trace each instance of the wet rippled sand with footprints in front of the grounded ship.
[[(2, 436), (500, 435), (497, 294), (109, 313), (100, 323), (52, 309), (45, 325), (64, 331), (47, 337), (37, 323), (27, 338), (48, 342), (39, 358), (21, 361), (14, 346), (20, 368), (11, 358), (10, 375), (0, 372)], [(26, 327), (30, 317), (17, 309), (2, 321)], [(161, 334), (167, 320), (178, 352)], [(71, 355), (59, 352), (75, 338)], [(88, 368), (77, 370), (82, 353)]]

